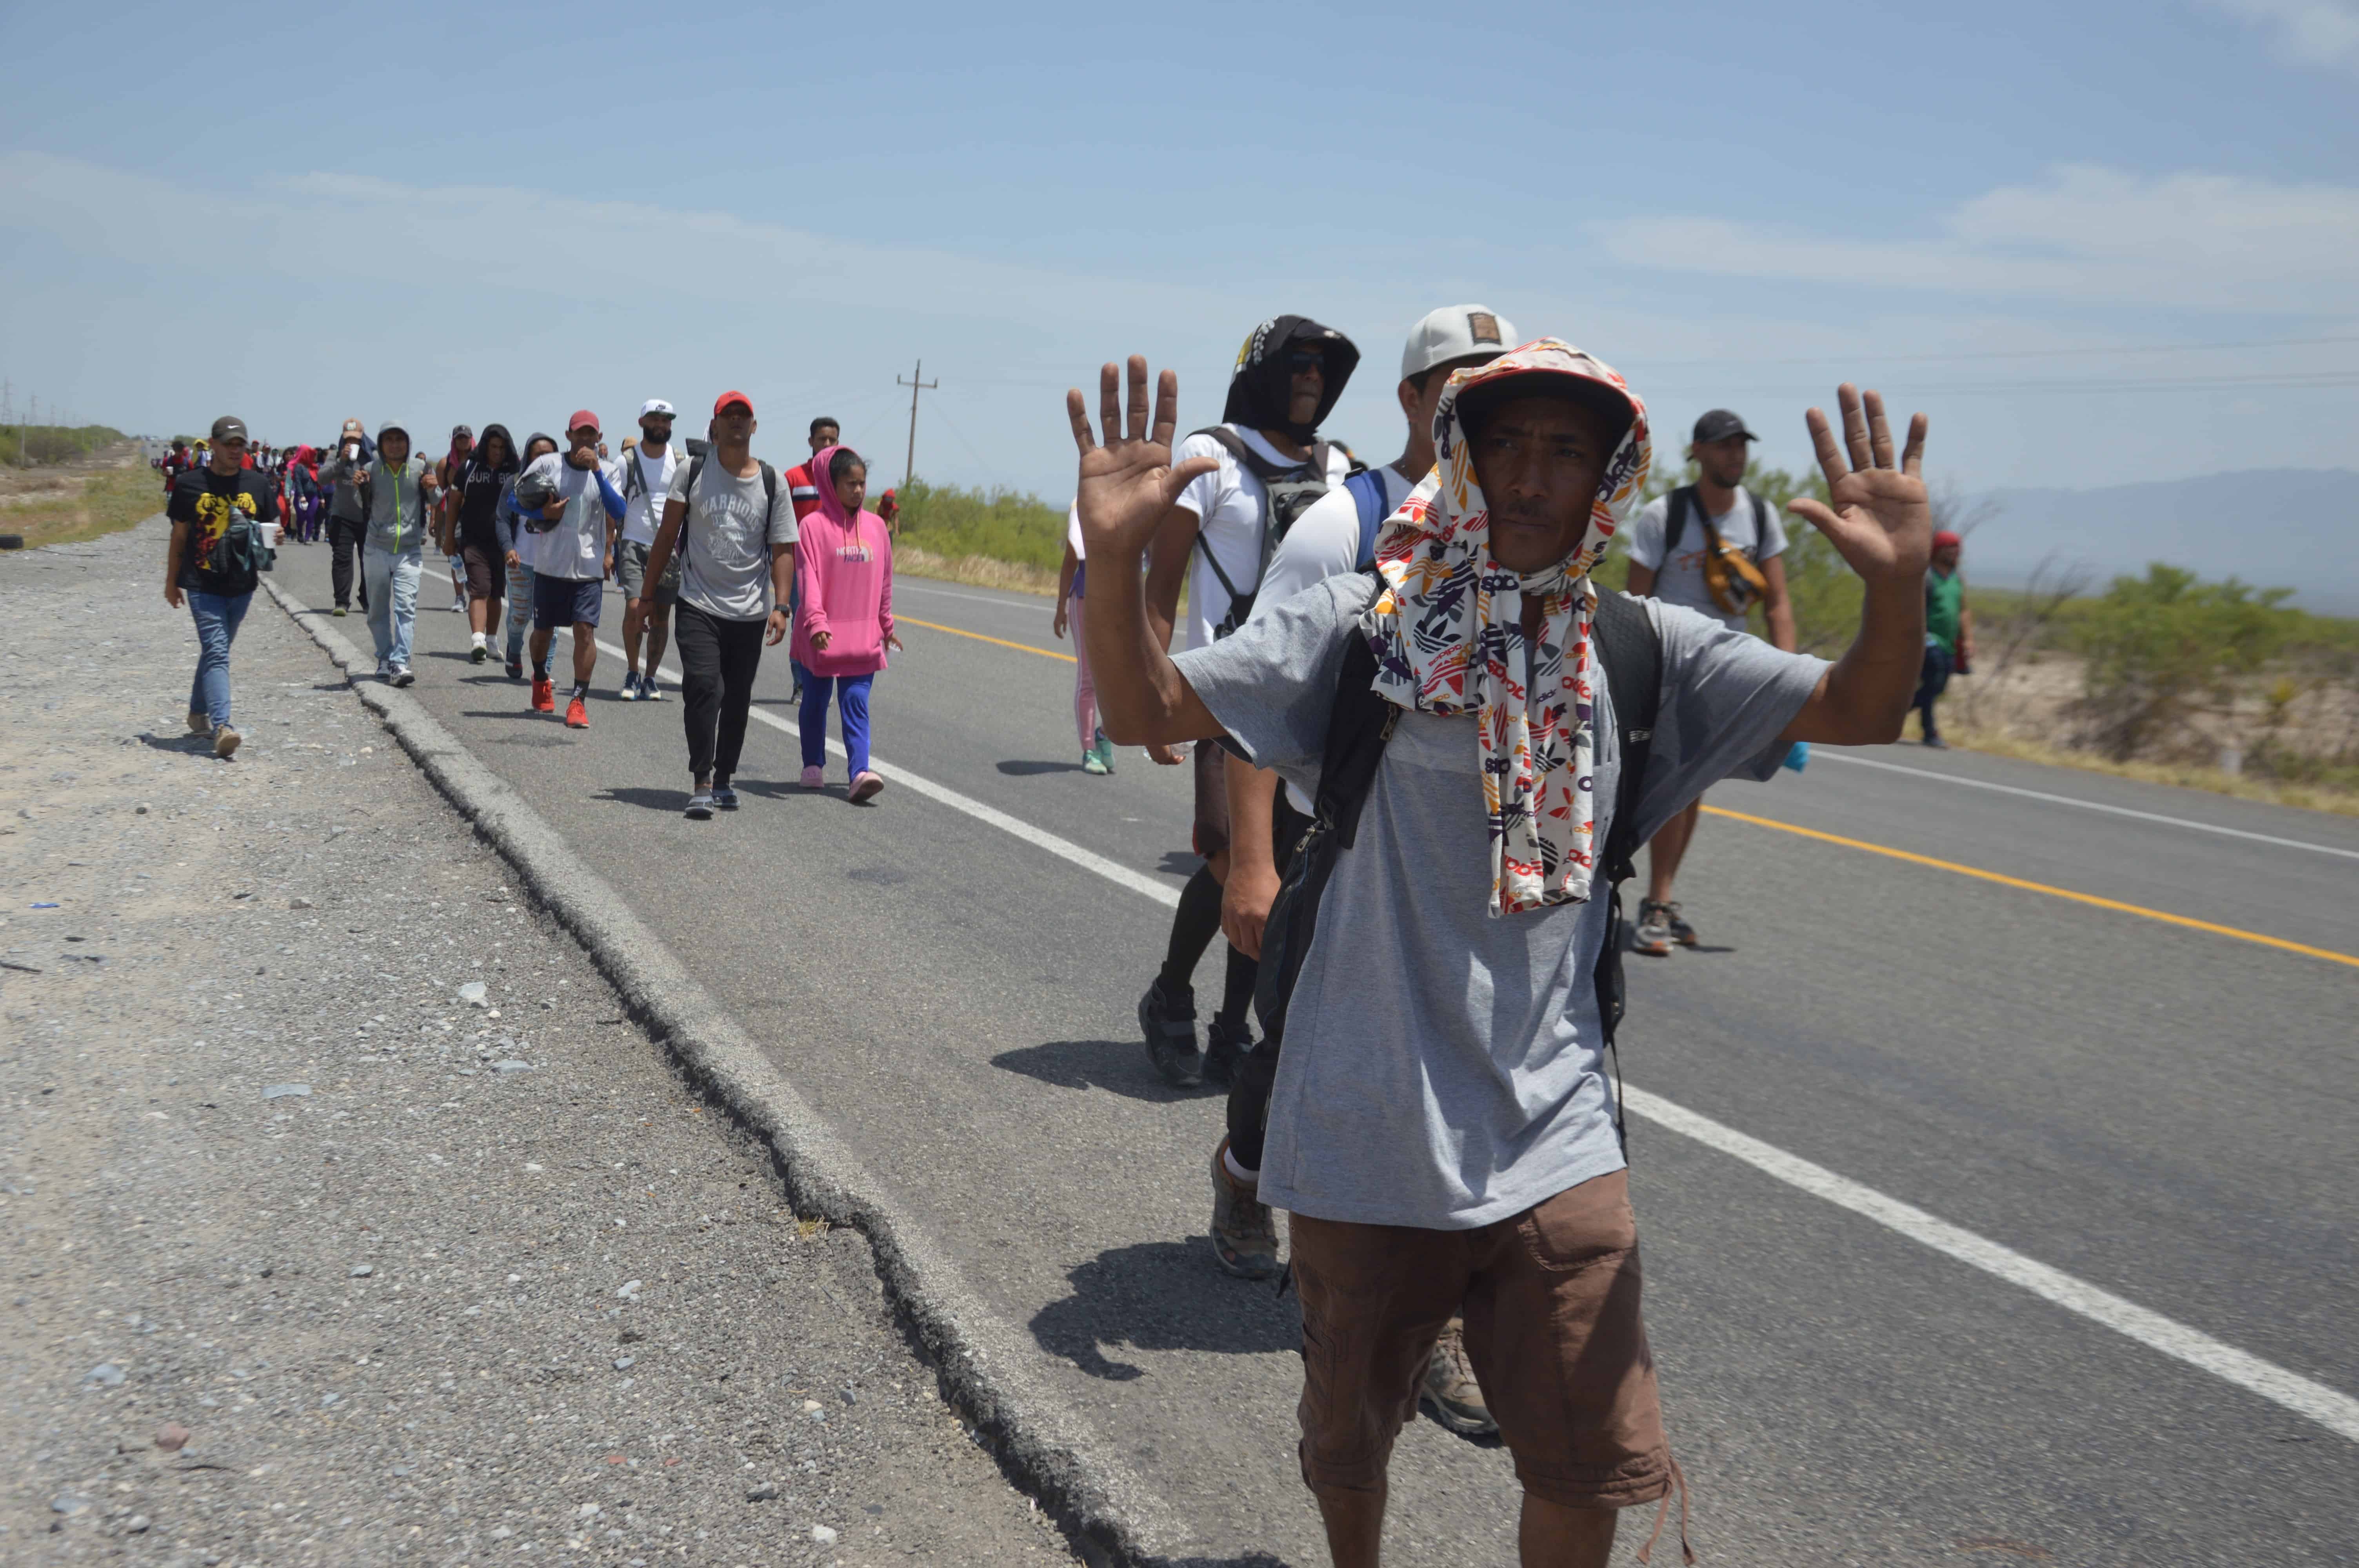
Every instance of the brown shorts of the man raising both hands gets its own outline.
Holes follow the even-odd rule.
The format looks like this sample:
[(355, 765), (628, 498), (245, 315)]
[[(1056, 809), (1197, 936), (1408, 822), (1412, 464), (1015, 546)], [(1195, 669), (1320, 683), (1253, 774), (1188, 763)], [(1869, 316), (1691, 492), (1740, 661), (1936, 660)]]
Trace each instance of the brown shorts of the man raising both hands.
[(1288, 1243), (1314, 1493), (1382, 1483), (1434, 1337), (1463, 1304), (1467, 1358), (1526, 1493), (1576, 1509), (1668, 1495), (1628, 1172), (1474, 1231), (1290, 1214)]

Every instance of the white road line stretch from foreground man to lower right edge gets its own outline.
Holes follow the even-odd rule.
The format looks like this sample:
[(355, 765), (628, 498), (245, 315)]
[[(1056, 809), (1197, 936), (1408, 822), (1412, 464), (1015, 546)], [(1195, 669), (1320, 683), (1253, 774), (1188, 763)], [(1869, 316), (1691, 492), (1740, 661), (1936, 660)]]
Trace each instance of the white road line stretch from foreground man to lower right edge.
[(1814, 1198), (1833, 1203), (1835, 1207), (1852, 1210), (1854, 1214), (1866, 1214), (1875, 1224), (1890, 1226), (1908, 1240), (1923, 1243), (1934, 1252), (1958, 1259), (1960, 1264), (1972, 1264), (1974, 1269), (1993, 1273), (2010, 1285), (2022, 1285), (2043, 1302), (2055, 1302), (2066, 1311), (2076, 1311), (2092, 1323), (2102, 1323), (2116, 1335), (2128, 1335), (2147, 1349), (2184, 1361), (2192, 1368), (2201, 1368), (2213, 1377), (2222, 1377), (2250, 1394), (2260, 1394), (2262, 1398), (2279, 1403), (2295, 1415), (2307, 1415), (2319, 1427), (2340, 1431), (2345, 1438), (2359, 1443), (2359, 1398), (2338, 1394), (2326, 1384), (2288, 1372), (2286, 1368), (2272, 1365), (2260, 1356), (2248, 1356), (2232, 1344), (2220, 1344), (2210, 1335), (2192, 1330), (2184, 1323), (2173, 1323), (2170, 1318), (2147, 1311), (2135, 1302), (2123, 1302), (2121, 1297), (2076, 1280), (2059, 1269), (2029, 1259), (2012, 1247), (2000, 1247), (1996, 1240), (1963, 1231), (1946, 1219), (1934, 1219), (1925, 1210), (1901, 1203), (1899, 1198), (1887, 1198), (1871, 1186), (1852, 1181), (1849, 1177), (1838, 1177), (1824, 1165), (1812, 1165), (1809, 1160), (1790, 1155), (1783, 1148), (1762, 1144), (1760, 1139), (1746, 1137), (1734, 1127), (1724, 1127), (1708, 1115), (1696, 1115), (1687, 1106), (1675, 1106), (1661, 1094), (1649, 1094), (1647, 1089), (1623, 1089), (1623, 1096), (1632, 1111), (1651, 1122), (1661, 1122), (1673, 1132), (1684, 1132), (1698, 1144), (1717, 1148), (1724, 1155), (1734, 1155), (1746, 1165), (1786, 1181), (1788, 1186), (1798, 1186)]

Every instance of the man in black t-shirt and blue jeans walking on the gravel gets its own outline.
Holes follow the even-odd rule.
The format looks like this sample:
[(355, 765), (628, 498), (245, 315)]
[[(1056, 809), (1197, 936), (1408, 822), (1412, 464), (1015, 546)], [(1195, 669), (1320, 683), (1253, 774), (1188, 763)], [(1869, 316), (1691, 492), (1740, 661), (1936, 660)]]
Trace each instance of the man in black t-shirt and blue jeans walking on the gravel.
[(259, 585), (269, 521), (278, 516), (271, 481), (245, 467), (245, 422), (212, 422), (212, 450), (172, 486), (165, 507), (172, 545), (165, 554), (163, 601), (186, 601), (196, 615), (196, 679), (189, 684), (189, 731), (212, 736), (212, 755), (238, 750), (229, 726), (229, 644)]

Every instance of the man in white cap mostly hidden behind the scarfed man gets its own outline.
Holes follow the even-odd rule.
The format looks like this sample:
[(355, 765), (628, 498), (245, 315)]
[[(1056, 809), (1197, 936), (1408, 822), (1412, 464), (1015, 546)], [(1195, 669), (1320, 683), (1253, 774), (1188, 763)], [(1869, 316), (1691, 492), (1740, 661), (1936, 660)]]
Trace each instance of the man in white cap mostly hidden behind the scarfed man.
[[(1394, 389), (1408, 420), (1408, 446), (1385, 467), (1352, 474), (1312, 502), (1269, 556), (1250, 620), (1267, 618), (1272, 608), (1326, 578), (1364, 571), (1375, 561), (1378, 528), (1434, 467), (1434, 408), (1451, 373), (1477, 370), (1514, 344), (1514, 325), (1484, 304), (1448, 304), (1408, 330), (1401, 384)], [(1281, 799), (1279, 776), (1236, 755), (1227, 757), (1227, 783), (1229, 877), (1222, 887), (1220, 929), (1231, 953), (1260, 960), (1262, 927), (1269, 922), (1269, 905), (1279, 896), (1293, 849), (1309, 828), (1312, 802), (1293, 785)], [(1260, 1200), (1262, 1132), (1279, 1070), (1276, 1056), (1269, 1045), (1250, 1049), (1229, 1087), (1229, 1137), (1213, 1155), (1213, 1245), (1222, 1257), (1257, 1252), (1276, 1257), (1276, 1219)], [(1498, 1431), (1467, 1363), (1458, 1318), (1441, 1330), (1420, 1398), (1451, 1431), (1467, 1436)]]

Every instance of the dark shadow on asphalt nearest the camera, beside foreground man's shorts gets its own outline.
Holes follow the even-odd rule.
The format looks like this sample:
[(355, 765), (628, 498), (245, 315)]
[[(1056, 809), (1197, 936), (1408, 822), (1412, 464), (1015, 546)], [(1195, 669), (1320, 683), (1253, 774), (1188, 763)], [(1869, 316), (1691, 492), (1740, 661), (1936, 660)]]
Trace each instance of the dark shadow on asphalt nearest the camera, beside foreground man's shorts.
[(1031, 1330), (1043, 1351), (1090, 1377), (1144, 1377), (1142, 1368), (1106, 1353), (1116, 1346), (1217, 1356), (1302, 1349), (1295, 1297), (1281, 1299), (1267, 1283), (1231, 1280), (1201, 1236), (1109, 1247), (1066, 1278), (1073, 1294), (1033, 1313)]

